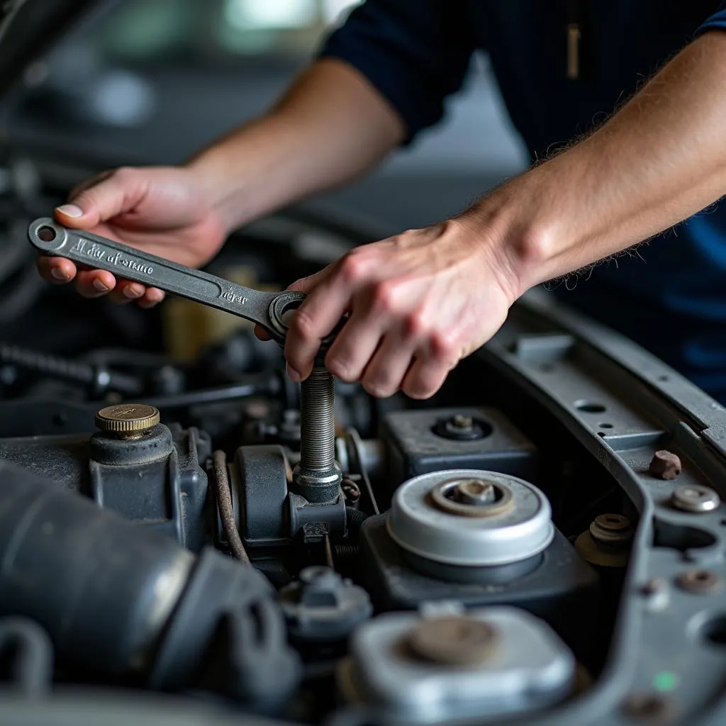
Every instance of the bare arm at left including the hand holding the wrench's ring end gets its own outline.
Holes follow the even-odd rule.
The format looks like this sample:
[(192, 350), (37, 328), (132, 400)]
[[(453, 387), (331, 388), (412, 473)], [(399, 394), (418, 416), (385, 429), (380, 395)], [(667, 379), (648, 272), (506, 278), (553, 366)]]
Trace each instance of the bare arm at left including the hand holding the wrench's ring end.
[[(68, 227), (93, 232), (189, 266), (200, 266), (240, 224), (362, 174), (404, 136), (398, 113), (357, 70), (319, 60), (264, 117), (181, 167), (121, 168), (81, 185), (56, 210)], [(38, 258), (46, 280), (86, 297), (111, 292), (150, 307), (155, 288)], [(113, 292), (112, 292), (113, 291)]]

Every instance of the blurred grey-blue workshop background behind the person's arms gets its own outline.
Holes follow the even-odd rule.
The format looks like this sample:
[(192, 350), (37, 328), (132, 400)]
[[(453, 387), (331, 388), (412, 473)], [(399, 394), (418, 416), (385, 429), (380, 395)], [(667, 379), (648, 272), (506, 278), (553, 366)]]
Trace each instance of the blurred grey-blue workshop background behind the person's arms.
[[(268, 107), (354, 4), (109, 1), (28, 68), (6, 132), (35, 158), (73, 160), (79, 177), (83, 160), (89, 169), (179, 163)], [(444, 123), (369, 178), (305, 206), (388, 234), (460, 211), (525, 165), (479, 55)]]

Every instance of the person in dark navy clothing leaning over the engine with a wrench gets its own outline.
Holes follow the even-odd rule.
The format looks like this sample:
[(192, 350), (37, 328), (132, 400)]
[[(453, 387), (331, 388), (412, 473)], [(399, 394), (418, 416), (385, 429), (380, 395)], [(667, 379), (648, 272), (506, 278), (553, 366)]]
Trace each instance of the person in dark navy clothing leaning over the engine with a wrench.
[[(556, 294), (726, 401), (726, 213), (696, 215), (726, 194), (719, 5), (367, 0), (264, 117), (184, 166), (91, 179), (55, 213), (203, 265), (232, 229), (354, 179), (439, 121), (485, 49), (533, 160), (546, 160), (454, 219), (363, 245), (296, 282), (309, 296), (287, 336), (290, 377), (308, 375), (347, 312), (330, 371), (376, 396), (431, 396), (520, 295), (579, 271)], [(87, 297), (144, 307), (163, 297), (65, 259), (38, 265)]]

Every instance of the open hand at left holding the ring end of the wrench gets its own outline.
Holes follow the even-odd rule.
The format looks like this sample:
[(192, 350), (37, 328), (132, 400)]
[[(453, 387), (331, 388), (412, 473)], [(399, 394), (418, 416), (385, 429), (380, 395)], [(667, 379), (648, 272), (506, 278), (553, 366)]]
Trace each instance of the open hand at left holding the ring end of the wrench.
[[(184, 167), (120, 168), (89, 179), (55, 210), (60, 224), (102, 234), (154, 255), (198, 267), (210, 260), (226, 237), (213, 206), (194, 174)], [(110, 293), (117, 303), (139, 301), (144, 308), (164, 293), (139, 282), (117, 280), (104, 270), (78, 269), (60, 257), (38, 256), (38, 271), (49, 282), (76, 280), (86, 298)]]

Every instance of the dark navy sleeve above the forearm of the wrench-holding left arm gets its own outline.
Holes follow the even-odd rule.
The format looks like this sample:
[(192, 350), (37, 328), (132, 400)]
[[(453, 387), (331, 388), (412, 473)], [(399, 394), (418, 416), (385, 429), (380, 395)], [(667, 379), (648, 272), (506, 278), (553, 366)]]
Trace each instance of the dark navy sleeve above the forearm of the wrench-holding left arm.
[(476, 41), (458, 0), (367, 0), (328, 36), (319, 57), (359, 70), (401, 115), (405, 143), (441, 119)]

